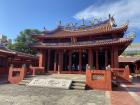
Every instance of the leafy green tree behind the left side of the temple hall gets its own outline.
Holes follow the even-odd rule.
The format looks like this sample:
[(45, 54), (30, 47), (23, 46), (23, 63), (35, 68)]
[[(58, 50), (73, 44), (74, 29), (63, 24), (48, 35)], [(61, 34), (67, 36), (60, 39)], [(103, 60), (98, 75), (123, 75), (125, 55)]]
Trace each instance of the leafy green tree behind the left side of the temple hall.
[(35, 54), (35, 52), (29, 47), (31, 44), (35, 43), (35, 40), (32, 38), (32, 35), (41, 34), (41, 31), (36, 29), (25, 29), (21, 31), (17, 36), (15, 43), (8, 45), (7, 47), (11, 50)]

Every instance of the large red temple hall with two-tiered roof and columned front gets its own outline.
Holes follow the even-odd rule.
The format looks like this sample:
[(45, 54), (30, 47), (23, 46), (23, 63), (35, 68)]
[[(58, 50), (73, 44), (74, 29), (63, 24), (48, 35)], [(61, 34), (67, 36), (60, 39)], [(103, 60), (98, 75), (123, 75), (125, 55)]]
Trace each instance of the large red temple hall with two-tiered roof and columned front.
[(119, 67), (118, 56), (133, 41), (124, 38), (128, 24), (116, 26), (113, 17), (94, 25), (70, 27), (59, 25), (33, 35), (32, 45), (39, 51), (39, 66), (51, 73), (85, 73), (86, 65), (105, 70), (107, 65)]

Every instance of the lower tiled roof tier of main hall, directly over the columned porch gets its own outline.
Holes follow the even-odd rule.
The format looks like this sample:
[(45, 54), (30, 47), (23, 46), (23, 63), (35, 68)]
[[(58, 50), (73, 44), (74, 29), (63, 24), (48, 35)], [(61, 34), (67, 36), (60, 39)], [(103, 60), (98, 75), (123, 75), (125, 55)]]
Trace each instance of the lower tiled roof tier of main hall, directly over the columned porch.
[(96, 46), (109, 46), (115, 44), (129, 45), (133, 41), (132, 38), (119, 38), (119, 39), (104, 39), (94, 41), (84, 41), (73, 43), (36, 43), (34, 48), (73, 48), (73, 47), (96, 47)]

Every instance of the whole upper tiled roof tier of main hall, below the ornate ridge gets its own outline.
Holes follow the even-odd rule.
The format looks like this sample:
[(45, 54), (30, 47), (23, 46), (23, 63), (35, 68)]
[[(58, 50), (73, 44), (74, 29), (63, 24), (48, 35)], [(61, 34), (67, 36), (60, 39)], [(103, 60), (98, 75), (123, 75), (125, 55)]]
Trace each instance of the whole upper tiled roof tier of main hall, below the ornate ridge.
[(102, 35), (112, 32), (124, 32), (128, 28), (128, 24), (123, 24), (120, 27), (113, 27), (112, 24), (108, 21), (105, 24), (100, 24), (95, 27), (88, 27), (85, 29), (77, 30), (67, 30), (61, 27), (58, 27), (57, 30), (53, 32), (45, 32), (42, 35), (33, 35), (34, 38), (57, 38), (57, 37), (71, 37), (71, 36), (86, 36), (86, 35)]

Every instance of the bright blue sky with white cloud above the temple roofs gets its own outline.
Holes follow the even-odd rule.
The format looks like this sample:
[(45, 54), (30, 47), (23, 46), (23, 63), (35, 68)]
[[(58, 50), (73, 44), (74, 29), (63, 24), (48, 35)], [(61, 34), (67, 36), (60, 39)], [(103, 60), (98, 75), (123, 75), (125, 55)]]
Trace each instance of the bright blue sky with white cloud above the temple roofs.
[(121, 25), (129, 21), (127, 33), (135, 32), (140, 42), (139, 0), (0, 0), (0, 33), (15, 39), (20, 31), (31, 28), (54, 29), (81, 18), (108, 18), (114, 15)]

